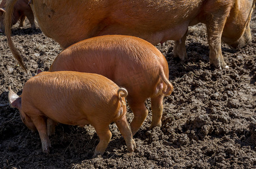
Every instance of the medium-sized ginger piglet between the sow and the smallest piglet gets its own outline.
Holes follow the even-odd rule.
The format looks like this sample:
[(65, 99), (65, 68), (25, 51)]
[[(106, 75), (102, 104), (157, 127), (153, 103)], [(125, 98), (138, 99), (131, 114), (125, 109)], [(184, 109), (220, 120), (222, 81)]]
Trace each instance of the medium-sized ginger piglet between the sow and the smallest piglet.
[(134, 113), (133, 135), (148, 115), (145, 100), (151, 98), (151, 127), (161, 127), (163, 98), (173, 92), (168, 63), (151, 43), (127, 35), (103, 35), (85, 39), (62, 51), (49, 71), (96, 73), (129, 92), (127, 102)]

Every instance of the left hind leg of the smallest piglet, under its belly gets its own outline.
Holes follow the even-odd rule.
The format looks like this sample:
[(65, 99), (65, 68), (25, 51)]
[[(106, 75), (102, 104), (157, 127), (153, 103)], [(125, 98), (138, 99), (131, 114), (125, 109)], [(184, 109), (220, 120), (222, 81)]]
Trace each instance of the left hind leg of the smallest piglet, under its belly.
[(92, 124), (94, 126), (97, 135), (99, 136), (100, 142), (96, 146), (94, 151), (94, 157), (96, 155), (102, 155), (105, 152), (105, 149), (108, 146), (109, 141), (111, 140), (112, 134), (109, 130), (109, 124), (106, 123), (96, 123)]

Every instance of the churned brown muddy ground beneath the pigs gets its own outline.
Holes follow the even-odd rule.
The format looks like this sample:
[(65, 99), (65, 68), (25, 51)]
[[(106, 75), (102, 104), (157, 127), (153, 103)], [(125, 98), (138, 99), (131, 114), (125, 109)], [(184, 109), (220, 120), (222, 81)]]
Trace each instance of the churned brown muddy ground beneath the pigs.
[[(159, 50), (169, 63), (174, 92), (164, 99), (162, 127), (148, 130), (149, 115), (135, 135), (137, 148), (127, 153), (116, 124), (103, 156), (92, 158), (99, 139), (91, 126), (60, 124), (50, 137), (50, 154), (42, 153), (37, 132), (10, 108), (7, 87), (21, 94), (37, 68), (48, 70), (61, 48), (41, 30), (13, 28), (12, 39), (24, 55), (28, 74), (17, 65), (0, 34), (0, 168), (256, 168), (256, 16), (253, 41), (240, 50), (222, 45), (227, 70), (209, 66), (204, 25), (189, 29), (188, 59), (174, 59), (173, 41)], [(38, 96), (40, 97), (40, 96)], [(128, 120), (133, 114), (128, 106)]]

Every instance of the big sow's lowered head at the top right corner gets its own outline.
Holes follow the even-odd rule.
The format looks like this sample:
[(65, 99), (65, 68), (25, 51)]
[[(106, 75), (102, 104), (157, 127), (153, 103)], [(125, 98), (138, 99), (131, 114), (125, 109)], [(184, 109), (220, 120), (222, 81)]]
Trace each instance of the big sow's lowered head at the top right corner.
[(235, 0), (222, 33), (222, 41), (233, 48), (251, 41), (250, 20), (255, 0)]

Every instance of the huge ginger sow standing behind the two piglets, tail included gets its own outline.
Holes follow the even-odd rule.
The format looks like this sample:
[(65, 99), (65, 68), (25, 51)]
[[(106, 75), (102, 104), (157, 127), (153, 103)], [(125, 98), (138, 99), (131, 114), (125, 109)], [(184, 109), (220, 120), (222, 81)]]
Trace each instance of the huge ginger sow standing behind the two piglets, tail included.
[[(12, 54), (24, 70), (23, 59), (11, 41), (7, 5), (6, 35)], [(209, 62), (226, 69), (221, 41), (241, 47), (251, 41), (250, 18), (256, 0), (32, 0), (30, 5), (39, 27), (65, 49), (73, 43), (99, 35), (122, 34), (140, 37), (157, 45), (174, 40), (173, 55), (187, 58), (188, 26), (204, 23), (208, 33)]]

